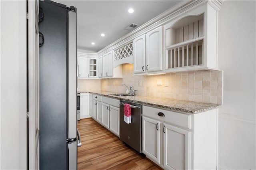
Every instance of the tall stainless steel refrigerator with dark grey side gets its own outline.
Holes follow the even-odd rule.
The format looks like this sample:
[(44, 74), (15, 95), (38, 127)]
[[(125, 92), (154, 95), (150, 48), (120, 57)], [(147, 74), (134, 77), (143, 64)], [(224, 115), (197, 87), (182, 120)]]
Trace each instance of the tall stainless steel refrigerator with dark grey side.
[(39, 2), (40, 170), (77, 169), (76, 8)]

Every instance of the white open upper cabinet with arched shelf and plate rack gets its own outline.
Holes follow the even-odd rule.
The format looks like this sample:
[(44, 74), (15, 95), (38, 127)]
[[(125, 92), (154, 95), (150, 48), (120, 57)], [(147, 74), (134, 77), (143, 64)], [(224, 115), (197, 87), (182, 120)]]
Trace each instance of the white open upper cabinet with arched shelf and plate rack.
[(217, 10), (205, 3), (164, 25), (165, 72), (217, 69)]

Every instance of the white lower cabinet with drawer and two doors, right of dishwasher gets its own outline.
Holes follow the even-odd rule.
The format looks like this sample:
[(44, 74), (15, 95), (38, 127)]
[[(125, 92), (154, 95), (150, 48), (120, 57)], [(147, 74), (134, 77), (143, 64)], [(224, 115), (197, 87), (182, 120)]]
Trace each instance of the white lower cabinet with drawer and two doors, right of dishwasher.
[(150, 160), (164, 169), (216, 168), (216, 109), (187, 114), (143, 105), (142, 115), (142, 152)]

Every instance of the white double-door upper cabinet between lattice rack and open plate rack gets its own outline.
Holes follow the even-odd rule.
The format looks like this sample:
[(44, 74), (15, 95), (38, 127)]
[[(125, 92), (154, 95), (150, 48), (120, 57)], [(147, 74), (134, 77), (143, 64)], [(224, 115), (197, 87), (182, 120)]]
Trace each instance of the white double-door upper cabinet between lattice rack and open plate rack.
[(162, 26), (134, 39), (134, 74), (162, 71)]

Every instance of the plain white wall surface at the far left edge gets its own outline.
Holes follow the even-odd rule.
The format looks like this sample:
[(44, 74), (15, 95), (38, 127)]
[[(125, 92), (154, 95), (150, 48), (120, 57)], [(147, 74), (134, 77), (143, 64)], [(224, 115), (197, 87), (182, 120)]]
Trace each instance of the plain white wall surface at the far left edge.
[(0, 169), (26, 169), (26, 1), (0, 9)]

